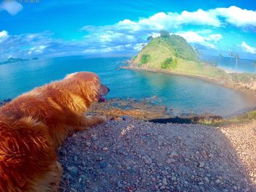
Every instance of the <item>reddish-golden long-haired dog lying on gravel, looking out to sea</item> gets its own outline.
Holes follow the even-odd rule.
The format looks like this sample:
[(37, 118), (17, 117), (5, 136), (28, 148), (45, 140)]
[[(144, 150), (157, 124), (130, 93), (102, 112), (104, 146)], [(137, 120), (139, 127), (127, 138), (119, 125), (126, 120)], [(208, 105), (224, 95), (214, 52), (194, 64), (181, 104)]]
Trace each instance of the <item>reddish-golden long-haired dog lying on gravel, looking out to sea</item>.
[(105, 121), (84, 112), (109, 88), (78, 72), (18, 96), (0, 108), (0, 191), (58, 191), (56, 151), (73, 131)]

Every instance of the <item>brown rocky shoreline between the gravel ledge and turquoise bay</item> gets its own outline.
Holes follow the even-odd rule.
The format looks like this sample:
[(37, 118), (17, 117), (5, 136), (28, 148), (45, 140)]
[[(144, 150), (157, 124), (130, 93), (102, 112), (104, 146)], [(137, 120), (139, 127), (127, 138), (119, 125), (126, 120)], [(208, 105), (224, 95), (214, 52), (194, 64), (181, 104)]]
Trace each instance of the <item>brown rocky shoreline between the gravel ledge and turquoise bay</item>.
[[(218, 115), (184, 114), (173, 116), (164, 105), (154, 104), (157, 97), (147, 99), (107, 99), (91, 106), (87, 115), (105, 115), (109, 120), (138, 119), (153, 123), (214, 123), (223, 118)], [(0, 107), (12, 99), (0, 101)], [(171, 110), (170, 110), (171, 111)]]

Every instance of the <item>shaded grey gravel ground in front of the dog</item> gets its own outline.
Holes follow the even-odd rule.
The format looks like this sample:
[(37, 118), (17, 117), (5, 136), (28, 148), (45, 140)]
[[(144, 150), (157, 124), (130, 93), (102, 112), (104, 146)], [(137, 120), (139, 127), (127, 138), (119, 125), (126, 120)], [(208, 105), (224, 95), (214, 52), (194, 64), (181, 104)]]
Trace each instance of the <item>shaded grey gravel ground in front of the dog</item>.
[(60, 191), (256, 191), (234, 145), (240, 138), (227, 132), (109, 120), (74, 134), (61, 147)]

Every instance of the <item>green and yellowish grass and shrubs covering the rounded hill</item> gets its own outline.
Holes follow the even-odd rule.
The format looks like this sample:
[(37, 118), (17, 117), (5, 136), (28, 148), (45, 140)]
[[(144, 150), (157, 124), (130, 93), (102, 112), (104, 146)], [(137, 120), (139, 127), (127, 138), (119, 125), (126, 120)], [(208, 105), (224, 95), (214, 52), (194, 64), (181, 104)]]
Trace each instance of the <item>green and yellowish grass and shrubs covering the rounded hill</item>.
[(201, 62), (196, 51), (178, 35), (151, 39), (132, 62), (139, 67), (147, 64), (148, 69), (171, 69), (177, 73), (211, 77), (227, 82), (250, 82), (252, 79), (256, 81), (254, 74), (227, 74), (210, 61)]

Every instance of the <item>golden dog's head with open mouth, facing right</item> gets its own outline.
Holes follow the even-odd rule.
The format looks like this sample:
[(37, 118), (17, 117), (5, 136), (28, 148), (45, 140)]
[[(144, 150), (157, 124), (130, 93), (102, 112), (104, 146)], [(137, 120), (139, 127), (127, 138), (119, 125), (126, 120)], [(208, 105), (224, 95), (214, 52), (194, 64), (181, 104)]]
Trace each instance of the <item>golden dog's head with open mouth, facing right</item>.
[(106, 85), (103, 85), (97, 74), (92, 72), (76, 72), (68, 74), (65, 79), (72, 79), (80, 82), (80, 85), (83, 85), (83, 94), (84, 96), (89, 96), (89, 100), (105, 102), (104, 96), (108, 94), (110, 88)]

